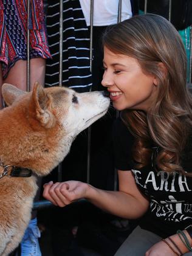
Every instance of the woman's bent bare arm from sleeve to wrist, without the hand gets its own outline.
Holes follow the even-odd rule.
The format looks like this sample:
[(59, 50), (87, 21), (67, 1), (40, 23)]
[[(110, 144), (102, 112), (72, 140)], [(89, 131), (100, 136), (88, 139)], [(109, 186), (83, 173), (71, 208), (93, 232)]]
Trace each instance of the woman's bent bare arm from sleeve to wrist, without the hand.
[(139, 218), (149, 202), (140, 193), (131, 171), (118, 171), (119, 191), (103, 191), (91, 187), (87, 199), (106, 212), (122, 218)]

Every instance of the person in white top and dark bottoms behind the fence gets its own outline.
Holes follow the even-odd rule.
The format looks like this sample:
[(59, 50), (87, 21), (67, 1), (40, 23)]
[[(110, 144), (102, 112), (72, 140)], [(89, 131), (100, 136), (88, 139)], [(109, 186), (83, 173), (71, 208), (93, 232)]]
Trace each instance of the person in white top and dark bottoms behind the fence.
[[(103, 50), (101, 46), (101, 35), (106, 27), (118, 22), (118, 0), (97, 0), (94, 1), (94, 19), (93, 19), (93, 61), (92, 61), (92, 90), (103, 90), (101, 80), (103, 77)], [(91, 1), (80, 0), (86, 25), (90, 33), (90, 11)], [(132, 16), (131, 2), (122, 0), (121, 21), (129, 19)]]

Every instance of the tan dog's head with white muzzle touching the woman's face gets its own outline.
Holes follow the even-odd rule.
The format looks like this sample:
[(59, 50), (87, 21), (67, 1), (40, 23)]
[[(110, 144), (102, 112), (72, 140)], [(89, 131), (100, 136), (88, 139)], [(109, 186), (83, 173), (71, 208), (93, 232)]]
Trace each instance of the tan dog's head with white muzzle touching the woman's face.
[[(18, 149), (12, 150), (21, 152), (12, 158), (18, 157), (23, 167), (31, 160), (36, 161), (28, 168), (38, 174), (47, 174), (62, 161), (77, 134), (105, 115), (109, 107), (109, 98), (103, 92), (77, 93), (64, 87), (44, 89), (38, 83), (32, 92), (4, 84), (2, 95), (9, 106), (2, 111), (4, 129), (6, 123), (7, 130), (15, 123), (15, 137), (23, 137), (15, 141)], [(39, 157), (45, 160), (44, 167), (42, 163), (38, 165)]]

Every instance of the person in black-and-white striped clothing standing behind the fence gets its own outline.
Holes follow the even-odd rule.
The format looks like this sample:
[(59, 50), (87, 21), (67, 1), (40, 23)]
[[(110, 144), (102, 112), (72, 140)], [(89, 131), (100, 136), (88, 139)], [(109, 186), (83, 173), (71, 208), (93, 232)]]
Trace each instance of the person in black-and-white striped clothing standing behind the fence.
[[(59, 85), (60, 2), (49, 1), (47, 34), (52, 60), (46, 63), (45, 85)], [(63, 1), (63, 86), (78, 92), (89, 91), (92, 77), (89, 61), (89, 33), (78, 0)]]

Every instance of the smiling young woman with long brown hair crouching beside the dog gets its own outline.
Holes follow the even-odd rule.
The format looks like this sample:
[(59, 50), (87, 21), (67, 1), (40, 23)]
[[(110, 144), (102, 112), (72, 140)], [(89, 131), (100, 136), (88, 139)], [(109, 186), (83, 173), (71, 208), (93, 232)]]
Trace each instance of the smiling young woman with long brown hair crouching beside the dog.
[(60, 207), (86, 198), (140, 219), (115, 255), (192, 255), (192, 99), (180, 36), (165, 18), (140, 15), (109, 27), (103, 46), (102, 84), (121, 111), (114, 126), (119, 189), (49, 182), (44, 197)]

